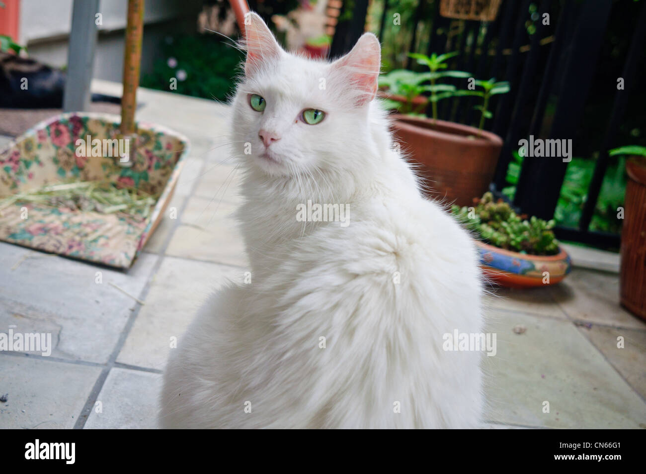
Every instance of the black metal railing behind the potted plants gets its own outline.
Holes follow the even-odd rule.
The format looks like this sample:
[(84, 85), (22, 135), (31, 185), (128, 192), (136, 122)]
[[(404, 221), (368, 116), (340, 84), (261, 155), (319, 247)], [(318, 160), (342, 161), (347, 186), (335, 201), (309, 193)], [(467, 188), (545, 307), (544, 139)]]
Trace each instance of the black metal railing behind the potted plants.
[[(496, 195), (501, 195), (501, 190), (508, 186), (507, 170), (519, 140), (530, 135), (543, 139), (573, 139), (575, 149), (588, 140), (581, 127), (595, 74), (603, 67), (599, 65), (599, 58), (607, 42), (609, 19), (619, 3), (613, 0), (503, 0), (496, 19), (489, 23), (444, 18), (439, 14), (439, 0), (419, 0), (417, 3), (412, 22), (406, 25), (411, 38), (408, 51), (430, 54), (457, 50), (460, 54), (453, 59), (451, 69), (468, 70), (478, 78), (495, 77), (510, 82), (511, 91), (496, 96), (497, 103), (492, 104), (494, 118), (485, 126), (504, 140), (492, 182)], [(384, 0), (383, 4), (379, 18), (382, 41), (384, 31), (390, 26), (391, 14), (399, 8), (396, 0)], [(348, 51), (364, 30), (368, 1), (346, 0), (342, 12), (346, 7), (352, 9), (352, 19), (337, 26), (332, 56)], [(640, 76), (639, 67), (643, 67), (643, 51), (646, 50), (646, 1), (630, 7), (630, 12), (636, 14), (626, 14), (627, 5), (621, 7), (625, 17), (621, 34), (626, 37), (621, 41), (629, 47), (623, 70), (618, 69), (616, 76), (623, 78), (625, 89), (603, 91), (607, 97), (614, 93), (609, 118), (599, 117), (607, 122), (603, 140), (596, 150), (591, 150), (589, 144), (583, 146), (587, 156), (596, 155), (597, 159), (578, 227), (556, 228), (561, 239), (606, 248), (617, 248), (620, 235), (592, 231), (590, 222), (609, 165), (607, 150), (626, 144), (616, 143), (616, 140), (627, 104), (636, 90), (634, 85)], [(549, 15), (548, 24), (544, 24), (547, 22), (543, 22), (543, 14)], [(427, 38), (419, 37), (420, 22), (431, 25), (426, 28), (430, 30)], [(457, 34), (450, 25), (460, 27)], [(528, 25), (532, 28), (531, 34)], [(406, 67), (414, 69), (417, 65), (408, 61)], [(473, 101), (470, 97), (443, 101), (439, 104), (439, 118), (470, 125), (475, 120)], [(550, 104), (552, 110), (547, 114)], [(596, 142), (596, 139), (589, 141)], [(525, 158), (516, 184), (514, 206), (523, 213), (552, 219), (567, 166), (567, 162), (558, 158)]]

